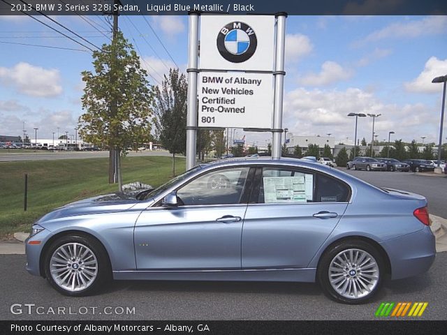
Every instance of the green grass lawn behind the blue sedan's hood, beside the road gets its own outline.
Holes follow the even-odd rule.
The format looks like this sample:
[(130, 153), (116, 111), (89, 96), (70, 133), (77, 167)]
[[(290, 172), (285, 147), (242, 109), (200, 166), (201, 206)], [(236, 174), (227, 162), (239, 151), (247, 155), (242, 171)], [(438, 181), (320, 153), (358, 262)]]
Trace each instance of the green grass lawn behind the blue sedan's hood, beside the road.
[[(184, 158), (175, 159), (176, 174)], [(23, 210), (24, 174), (28, 174), (28, 209)], [(172, 158), (122, 159), (123, 184), (141, 181), (159, 186), (172, 177)], [(68, 202), (117, 191), (108, 184), (108, 158), (0, 163), (0, 236), (28, 231), (43, 214)]]

